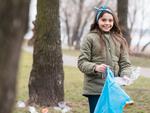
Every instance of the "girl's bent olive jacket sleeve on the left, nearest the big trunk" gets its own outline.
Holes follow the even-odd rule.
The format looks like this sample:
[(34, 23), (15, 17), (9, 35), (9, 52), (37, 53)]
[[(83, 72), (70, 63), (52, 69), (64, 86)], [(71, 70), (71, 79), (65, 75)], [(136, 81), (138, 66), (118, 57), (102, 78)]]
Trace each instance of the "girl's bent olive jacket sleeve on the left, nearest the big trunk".
[(80, 44), (80, 55), (78, 57), (78, 68), (85, 74), (94, 72), (95, 63), (91, 62), (92, 39), (90, 36), (83, 38)]

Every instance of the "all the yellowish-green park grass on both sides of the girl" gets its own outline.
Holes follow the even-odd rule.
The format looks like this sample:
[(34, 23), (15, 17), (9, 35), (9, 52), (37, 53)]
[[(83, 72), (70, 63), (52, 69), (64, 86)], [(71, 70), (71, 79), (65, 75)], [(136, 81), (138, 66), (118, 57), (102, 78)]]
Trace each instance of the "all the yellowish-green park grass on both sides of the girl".
[[(65, 52), (68, 52), (65, 50)], [(71, 51), (72, 52), (72, 51)], [(75, 52), (72, 52), (72, 54)], [(69, 54), (69, 52), (68, 52)], [(78, 54), (78, 52), (76, 52)], [(138, 59), (141, 64), (145, 59)], [(28, 99), (28, 79), (32, 66), (32, 55), (25, 51), (22, 52), (18, 85), (17, 101)], [(87, 99), (82, 96), (83, 74), (74, 67), (64, 66), (65, 72), (65, 102), (71, 107), (69, 113), (88, 113)], [(150, 108), (150, 79), (140, 77), (133, 85), (125, 87), (127, 93), (132, 97), (135, 104), (125, 109), (124, 113), (149, 113)], [(37, 107), (41, 111), (40, 107)], [(13, 113), (29, 113), (28, 108), (14, 107)], [(49, 108), (49, 113), (60, 113)]]

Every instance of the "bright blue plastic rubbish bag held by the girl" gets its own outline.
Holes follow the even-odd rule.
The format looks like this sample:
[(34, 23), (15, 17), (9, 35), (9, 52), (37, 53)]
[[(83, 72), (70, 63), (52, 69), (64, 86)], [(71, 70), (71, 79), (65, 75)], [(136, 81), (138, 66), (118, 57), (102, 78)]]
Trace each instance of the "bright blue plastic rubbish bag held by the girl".
[(115, 82), (114, 74), (107, 67), (106, 81), (94, 113), (122, 113), (123, 108), (131, 98)]

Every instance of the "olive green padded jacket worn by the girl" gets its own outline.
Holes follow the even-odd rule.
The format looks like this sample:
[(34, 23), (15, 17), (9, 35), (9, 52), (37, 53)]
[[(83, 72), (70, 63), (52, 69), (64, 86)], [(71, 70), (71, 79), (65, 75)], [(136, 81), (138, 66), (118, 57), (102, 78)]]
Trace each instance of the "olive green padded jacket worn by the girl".
[(84, 73), (83, 95), (99, 95), (104, 85), (103, 73), (95, 72), (96, 64), (107, 64), (115, 76), (128, 76), (131, 73), (131, 63), (128, 50), (122, 50), (122, 45), (114, 43), (112, 36), (103, 36), (104, 46), (96, 31), (90, 32), (81, 41), (78, 68)]

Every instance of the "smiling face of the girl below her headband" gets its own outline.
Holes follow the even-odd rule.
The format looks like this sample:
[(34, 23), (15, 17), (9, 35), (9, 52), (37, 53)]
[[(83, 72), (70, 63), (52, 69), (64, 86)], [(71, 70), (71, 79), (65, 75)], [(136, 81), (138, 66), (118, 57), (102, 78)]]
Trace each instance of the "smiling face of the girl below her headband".
[(114, 25), (113, 16), (109, 13), (104, 13), (98, 20), (99, 28), (104, 32), (109, 32)]

